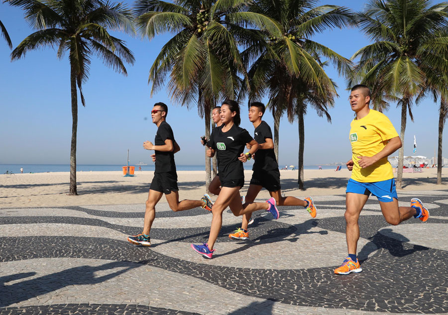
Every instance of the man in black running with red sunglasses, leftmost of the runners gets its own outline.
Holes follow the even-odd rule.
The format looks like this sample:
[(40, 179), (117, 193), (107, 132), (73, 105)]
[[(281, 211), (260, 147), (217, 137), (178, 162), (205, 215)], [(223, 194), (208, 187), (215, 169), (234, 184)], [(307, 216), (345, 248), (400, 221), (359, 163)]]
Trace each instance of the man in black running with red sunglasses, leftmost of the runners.
[(155, 162), (154, 177), (149, 187), (148, 200), (143, 225), (143, 232), (129, 236), (127, 240), (134, 245), (151, 246), (149, 232), (155, 218), (155, 206), (162, 195), (173, 211), (189, 210), (197, 207), (212, 210), (212, 201), (204, 196), (201, 200), (183, 200), (179, 202), (179, 188), (177, 187), (176, 164), (174, 153), (180, 151), (180, 147), (174, 139), (173, 130), (166, 122), (168, 106), (164, 103), (156, 103), (151, 110), (152, 122), (157, 125), (157, 133), (154, 144), (151, 141), (143, 142), (143, 148), (154, 150), (151, 155)]

